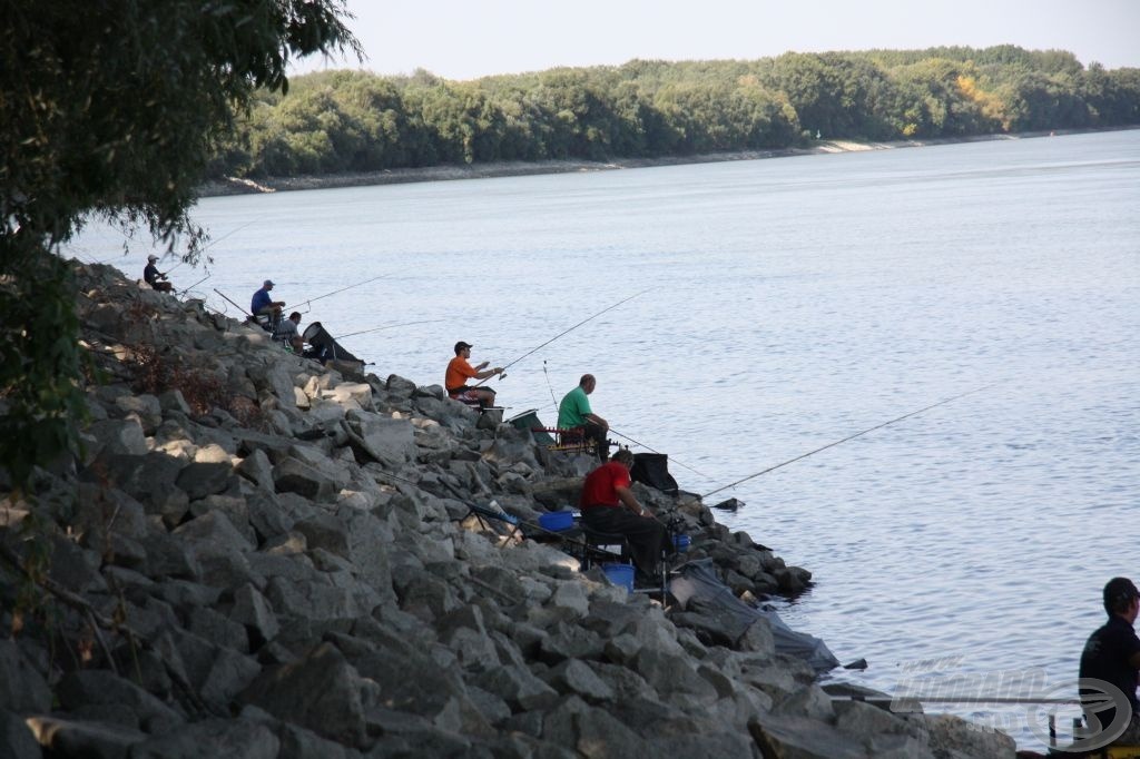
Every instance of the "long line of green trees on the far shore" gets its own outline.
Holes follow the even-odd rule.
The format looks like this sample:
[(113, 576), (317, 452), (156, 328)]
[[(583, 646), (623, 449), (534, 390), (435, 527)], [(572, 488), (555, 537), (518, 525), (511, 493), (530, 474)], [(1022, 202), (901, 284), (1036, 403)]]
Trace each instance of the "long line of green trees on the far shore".
[(290, 177), (491, 161), (653, 158), (1140, 124), (1140, 68), (1061, 50), (788, 52), (456, 82), (333, 71), (266, 91), (211, 173)]

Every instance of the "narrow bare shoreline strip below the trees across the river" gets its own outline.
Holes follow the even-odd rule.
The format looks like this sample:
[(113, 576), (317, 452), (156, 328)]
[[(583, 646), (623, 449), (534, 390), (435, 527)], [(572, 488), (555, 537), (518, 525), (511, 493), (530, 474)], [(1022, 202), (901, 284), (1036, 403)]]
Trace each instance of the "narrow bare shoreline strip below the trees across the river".
[[(1134, 128), (1127, 128), (1134, 129)], [(302, 189), (329, 189), (335, 187), (367, 187), (370, 185), (398, 185), (405, 182), (429, 182), (454, 179), (487, 179), (492, 177), (526, 177), (530, 174), (559, 174), (583, 171), (616, 171), (620, 169), (645, 169), (651, 166), (675, 166), (691, 163), (718, 163), (724, 161), (756, 161), (759, 158), (782, 158), (821, 153), (854, 153), (861, 150), (891, 150), (906, 147), (950, 145), (954, 142), (985, 142), (993, 140), (1017, 140), (1032, 137), (1072, 134), (1064, 132), (1020, 132), (1017, 134), (982, 134), (976, 137), (942, 138), (927, 140), (894, 140), (873, 142), (868, 140), (814, 140), (807, 147), (773, 150), (739, 150), (732, 153), (706, 153), (690, 156), (667, 156), (661, 158), (620, 158), (600, 161), (534, 161), (475, 163), (470, 165), (424, 166), (421, 169), (391, 169), (372, 172), (342, 172), (302, 177), (270, 177), (266, 179), (227, 178), (206, 182), (199, 194), (203, 197), (219, 195), (245, 195)], [(1109, 130), (1110, 131), (1110, 130)]]

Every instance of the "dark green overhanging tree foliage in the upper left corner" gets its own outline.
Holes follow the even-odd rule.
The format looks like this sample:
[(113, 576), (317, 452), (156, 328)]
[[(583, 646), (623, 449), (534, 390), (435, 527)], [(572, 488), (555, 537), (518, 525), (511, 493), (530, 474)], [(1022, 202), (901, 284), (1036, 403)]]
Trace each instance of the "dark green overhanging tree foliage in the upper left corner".
[[(82, 405), (58, 245), (96, 214), (195, 259), (195, 188), (255, 149), (235, 112), (285, 91), (292, 56), (358, 50), (343, 15), (342, 0), (0, 0), (0, 460), (17, 489), (70, 450)], [(327, 121), (299, 123), (342, 131)], [(290, 155), (327, 152), (290, 139)]]

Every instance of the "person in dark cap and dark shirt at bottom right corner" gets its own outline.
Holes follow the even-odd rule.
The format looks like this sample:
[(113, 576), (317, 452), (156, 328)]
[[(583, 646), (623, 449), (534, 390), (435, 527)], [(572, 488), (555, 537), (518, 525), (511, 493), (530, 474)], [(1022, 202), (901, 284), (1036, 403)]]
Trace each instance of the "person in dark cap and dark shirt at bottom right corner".
[[(1140, 676), (1140, 638), (1132, 628), (1140, 612), (1140, 590), (1126, 577), (1114, 577), (1105, 586), (1105, 611), (1108, 621), (1089, 636), (1081, 652), (1080, 677), (1082, 707), (1088, 723), (1085, 738), (1108, 742), (1140, 743), (1140, 715), (1137, 713), (1137, 680)], [(1105, 688), (1104, 685), (1113, 686)], [(1089, 687), (1092, 686), (1092, 687)], [(1105, 701), (1105, 695), (1124, 694), (1127, 703), (1127, 719), (1117, 713), (1115, 701)], [(1099, 697), (1098, 697), (1099, 696)], [(1119, 696), (1117, 695), (1117, 699)], [(1115, 733), (1109, 735), (1108, 732)]]

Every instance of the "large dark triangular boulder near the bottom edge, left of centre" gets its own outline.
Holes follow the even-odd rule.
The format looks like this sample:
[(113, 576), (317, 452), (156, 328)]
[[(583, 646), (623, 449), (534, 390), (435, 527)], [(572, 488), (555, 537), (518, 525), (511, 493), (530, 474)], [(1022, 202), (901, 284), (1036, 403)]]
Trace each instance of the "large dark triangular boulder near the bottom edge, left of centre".
[(325, 643), (296, 664), (264, 672), (241, 699), (283, 721), (363, 748), (367, 733), (360, 687), (357, 671), (335, 646)]

